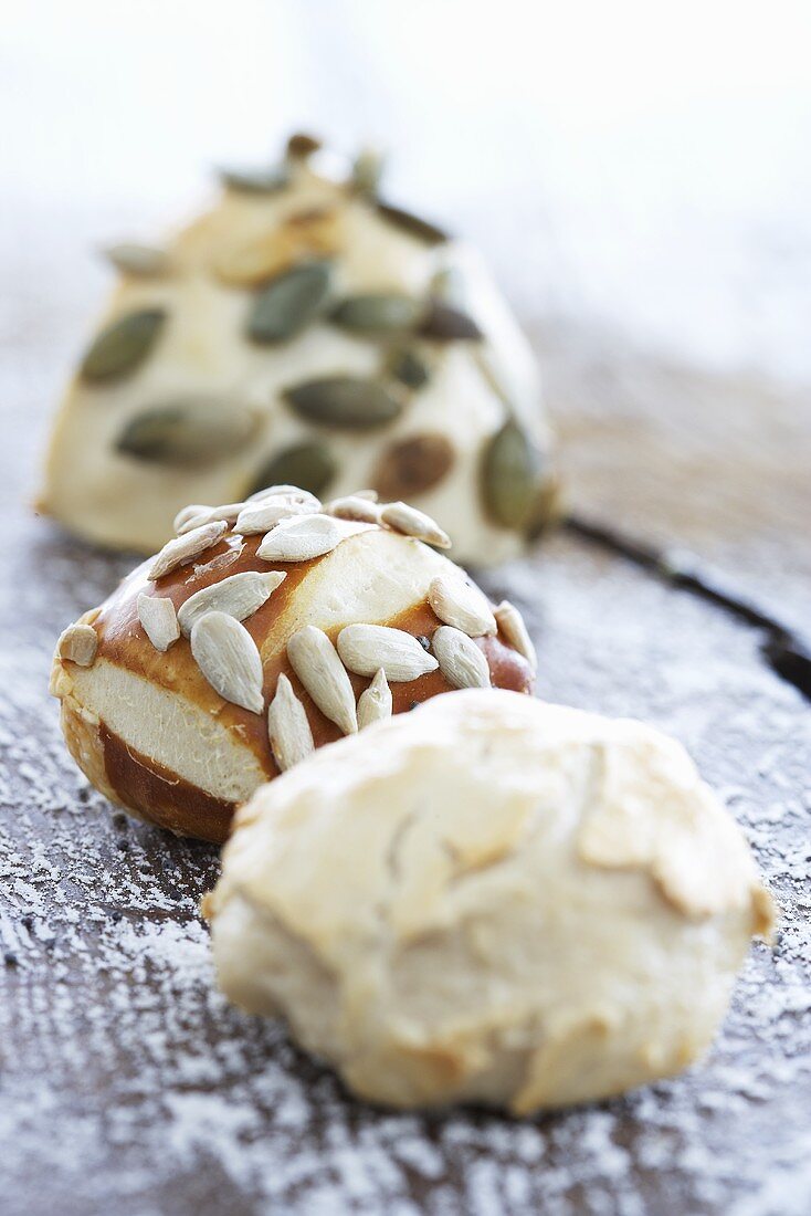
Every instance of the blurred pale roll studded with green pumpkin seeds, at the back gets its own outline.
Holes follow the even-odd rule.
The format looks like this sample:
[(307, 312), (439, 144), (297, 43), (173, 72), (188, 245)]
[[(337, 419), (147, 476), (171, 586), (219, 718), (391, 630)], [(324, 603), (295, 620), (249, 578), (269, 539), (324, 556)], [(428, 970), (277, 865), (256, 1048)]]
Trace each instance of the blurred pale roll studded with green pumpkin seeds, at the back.
[[(308, 152), (308, 148), (310, 151)], [(226, 174), (119, 281), (53, 430), (41, 510), (151, 552), (186, 502), (355, 485), (435, 516), (455, 557), (516, 556), (553, 502), (529, 347), (475, 257), (293, 140)]]

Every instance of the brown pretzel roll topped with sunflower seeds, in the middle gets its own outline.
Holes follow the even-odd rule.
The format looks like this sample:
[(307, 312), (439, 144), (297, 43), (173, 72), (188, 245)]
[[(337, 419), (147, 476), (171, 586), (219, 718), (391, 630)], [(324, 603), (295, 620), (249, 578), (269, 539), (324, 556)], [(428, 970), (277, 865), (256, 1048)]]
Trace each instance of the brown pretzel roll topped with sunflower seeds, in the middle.
[[(415, 539), (446, 541), (404, 503), (321, 508), (282, 486), (193, 507), (179, 528), (64, 631), (51, 681), (92, 784), (162, 827), (224, 840), (258, 786), (359, 720), (471, 680), (530, 688), (534, 654), (516, 610), (494, 614), (458, 567)], [(454, 642), (441, 664), (440, 629)]]

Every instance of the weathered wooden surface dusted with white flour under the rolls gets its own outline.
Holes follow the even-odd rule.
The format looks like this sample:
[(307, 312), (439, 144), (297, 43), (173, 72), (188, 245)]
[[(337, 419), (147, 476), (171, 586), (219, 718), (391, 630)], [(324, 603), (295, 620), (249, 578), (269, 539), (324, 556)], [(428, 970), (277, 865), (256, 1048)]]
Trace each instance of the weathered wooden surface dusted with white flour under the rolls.
[[(753, 950), (709, 1059), (676, 1081), (523, 1122), (357, 1104), (282, 1026), (216, 993), (197, 912), (215, 850), (111, 814), (62, 744), (46, 694), (55, 638), (129, 562), (27, 512), (77, 328), (71, 286), (43, 305), (24, 268), (0, 372), (6, 1216), (805, 1216), (811, 709), (764, 665), (756, 631), (564, 534), (488, 575), (525, 610), (542, 696), (646, 717), (687, 744), (751, 840), (782, 928), (775, 951)], [(537, 345), (570, 500), (688, 544), (807, 619), (807, 402), (582, 334)]]

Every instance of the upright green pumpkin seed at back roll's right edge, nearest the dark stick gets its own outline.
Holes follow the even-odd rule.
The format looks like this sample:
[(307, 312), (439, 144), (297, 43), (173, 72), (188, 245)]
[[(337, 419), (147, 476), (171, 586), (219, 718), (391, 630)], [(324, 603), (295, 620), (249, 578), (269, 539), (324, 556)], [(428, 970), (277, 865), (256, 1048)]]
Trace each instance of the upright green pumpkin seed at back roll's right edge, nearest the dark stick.
[(533, 530), (548, 508), (550, 469), (541, 450), (511, 420), (485, 447), (484, 507), (501, 528)]

